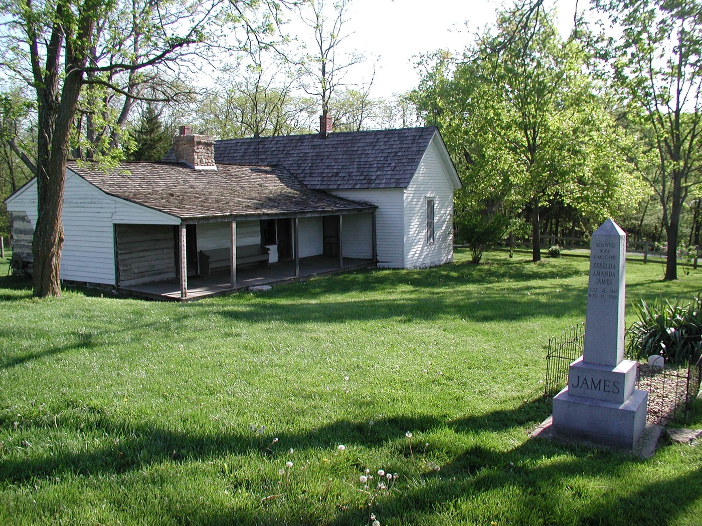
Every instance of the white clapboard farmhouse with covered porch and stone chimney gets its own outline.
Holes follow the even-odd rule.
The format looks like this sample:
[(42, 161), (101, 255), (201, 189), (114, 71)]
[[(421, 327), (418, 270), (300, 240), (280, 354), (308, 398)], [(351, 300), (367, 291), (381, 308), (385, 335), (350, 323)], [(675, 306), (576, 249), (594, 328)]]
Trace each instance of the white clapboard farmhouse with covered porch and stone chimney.
[[(69, 161), (61, 278), (187, 300), (443, 264), (460, 187), (435, 128), (213, 142), (184, 126), (162, 163)], [(36, 180), (6, 205), (13, 251), (31, 259)]]

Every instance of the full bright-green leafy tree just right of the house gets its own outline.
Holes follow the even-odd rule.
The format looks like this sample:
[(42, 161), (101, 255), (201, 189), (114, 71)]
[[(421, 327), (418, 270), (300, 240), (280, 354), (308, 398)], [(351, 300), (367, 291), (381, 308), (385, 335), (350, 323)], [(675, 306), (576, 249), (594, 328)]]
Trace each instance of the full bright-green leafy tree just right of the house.
[(461, 61), (431, 57), (416, 101), (442, 129), (468, 193), (488, 196), (467, 200), (477, 209), (457, 202), (457, 210), (524, 211), (536, 262), (545, 206), (558, 201), (600, 219), (635, 200), (637, 186), (616, 154), (621, 130), (583, 73), (582, 46), (562, 41), (546, 13), (531, 15), (501, 13)]

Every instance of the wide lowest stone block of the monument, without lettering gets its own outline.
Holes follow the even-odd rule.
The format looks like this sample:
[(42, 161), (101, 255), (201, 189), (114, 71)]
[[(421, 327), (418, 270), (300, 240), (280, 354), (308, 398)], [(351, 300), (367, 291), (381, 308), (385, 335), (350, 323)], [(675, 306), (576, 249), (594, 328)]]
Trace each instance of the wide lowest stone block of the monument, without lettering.
[(553, 398), (554, 436), (632, 449), (646, 427), (647, 391), (623, 403), (574, 396), (565, 387)]

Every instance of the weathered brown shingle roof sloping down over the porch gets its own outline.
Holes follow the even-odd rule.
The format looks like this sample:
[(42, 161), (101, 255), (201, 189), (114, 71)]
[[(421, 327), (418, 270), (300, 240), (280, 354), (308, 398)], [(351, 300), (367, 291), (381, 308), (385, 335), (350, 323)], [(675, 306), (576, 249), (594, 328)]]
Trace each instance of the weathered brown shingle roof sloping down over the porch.
[(376, 208), (311, 190), (279, 166), (220, 164), (217, 170), (194, 170), (181, 163), (120, 163), (103, 170), (93, 163), (69, 161), (67, 168), (105, 194), (184, 220), (324, 215)]

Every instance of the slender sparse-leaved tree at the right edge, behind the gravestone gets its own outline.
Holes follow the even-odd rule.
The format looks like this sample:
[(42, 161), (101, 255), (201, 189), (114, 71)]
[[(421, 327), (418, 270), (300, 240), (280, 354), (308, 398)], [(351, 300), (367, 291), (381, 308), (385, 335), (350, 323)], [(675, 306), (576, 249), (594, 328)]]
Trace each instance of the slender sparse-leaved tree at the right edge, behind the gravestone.
[[(676, 248), (687, 198), (701, 183), (702, 4), (696, 0), (596, 0), (611, 85), (621, 94), (637, 149), (630, 157), (663, 209), (665, 280), (677, 279)], [(616, 36), (611, 36), (614, 32)], [(603, 33), (604, 34), (604, 33)]]

